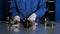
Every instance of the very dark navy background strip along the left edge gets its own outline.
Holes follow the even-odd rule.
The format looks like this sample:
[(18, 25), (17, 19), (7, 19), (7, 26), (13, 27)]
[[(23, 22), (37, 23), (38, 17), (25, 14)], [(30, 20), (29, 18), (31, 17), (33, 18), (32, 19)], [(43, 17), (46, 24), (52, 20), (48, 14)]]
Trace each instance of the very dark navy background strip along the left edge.
[(8, 0), (0, 0), (0, 21), (6, 19), (7, 12), (8, 12)]

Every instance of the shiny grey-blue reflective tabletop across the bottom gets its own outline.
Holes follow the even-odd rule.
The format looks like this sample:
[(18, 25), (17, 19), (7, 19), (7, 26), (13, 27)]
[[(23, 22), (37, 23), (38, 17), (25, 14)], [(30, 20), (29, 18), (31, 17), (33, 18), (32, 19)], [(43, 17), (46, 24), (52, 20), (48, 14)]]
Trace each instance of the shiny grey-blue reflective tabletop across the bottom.
[(26, 29), (20, 24), (18, 26), (9, 26), (0, 22), (0, 34), (60, 34), (60, 23), (54, 26), (39, 24), (36, 27)]

